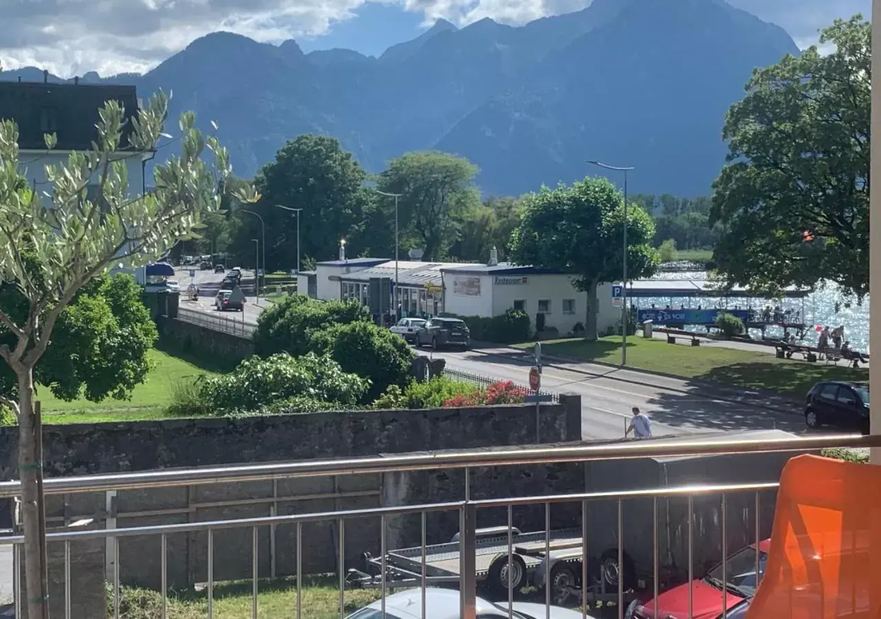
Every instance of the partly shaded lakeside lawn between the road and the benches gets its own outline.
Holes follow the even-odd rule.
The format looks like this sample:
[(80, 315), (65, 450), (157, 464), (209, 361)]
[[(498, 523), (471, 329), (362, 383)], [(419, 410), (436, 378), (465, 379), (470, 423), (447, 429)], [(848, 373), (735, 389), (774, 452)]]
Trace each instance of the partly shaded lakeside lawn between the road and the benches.
[[(534, 343), (515, 344), (531, 349)], [(621, 360), (620, 336), (603, 337), (596, 342), (581, 339), (550, 340), (542, 343), (548, 355), (576, 357), (585, 361), (618, 365)], [(715, 380), (741, 387), (773, 389), (799, 397), (818, 380), (869, 380), (869, 370), (853, 370), (844, 365), (809, 364), (802, 360), (778, 359), (772, 354), (737, 350), (715, 345), (698, 347), (668, 344), (642, 337), (627, 339), (627, 365), (648, 372), (662, 372), (684, 379)]]

